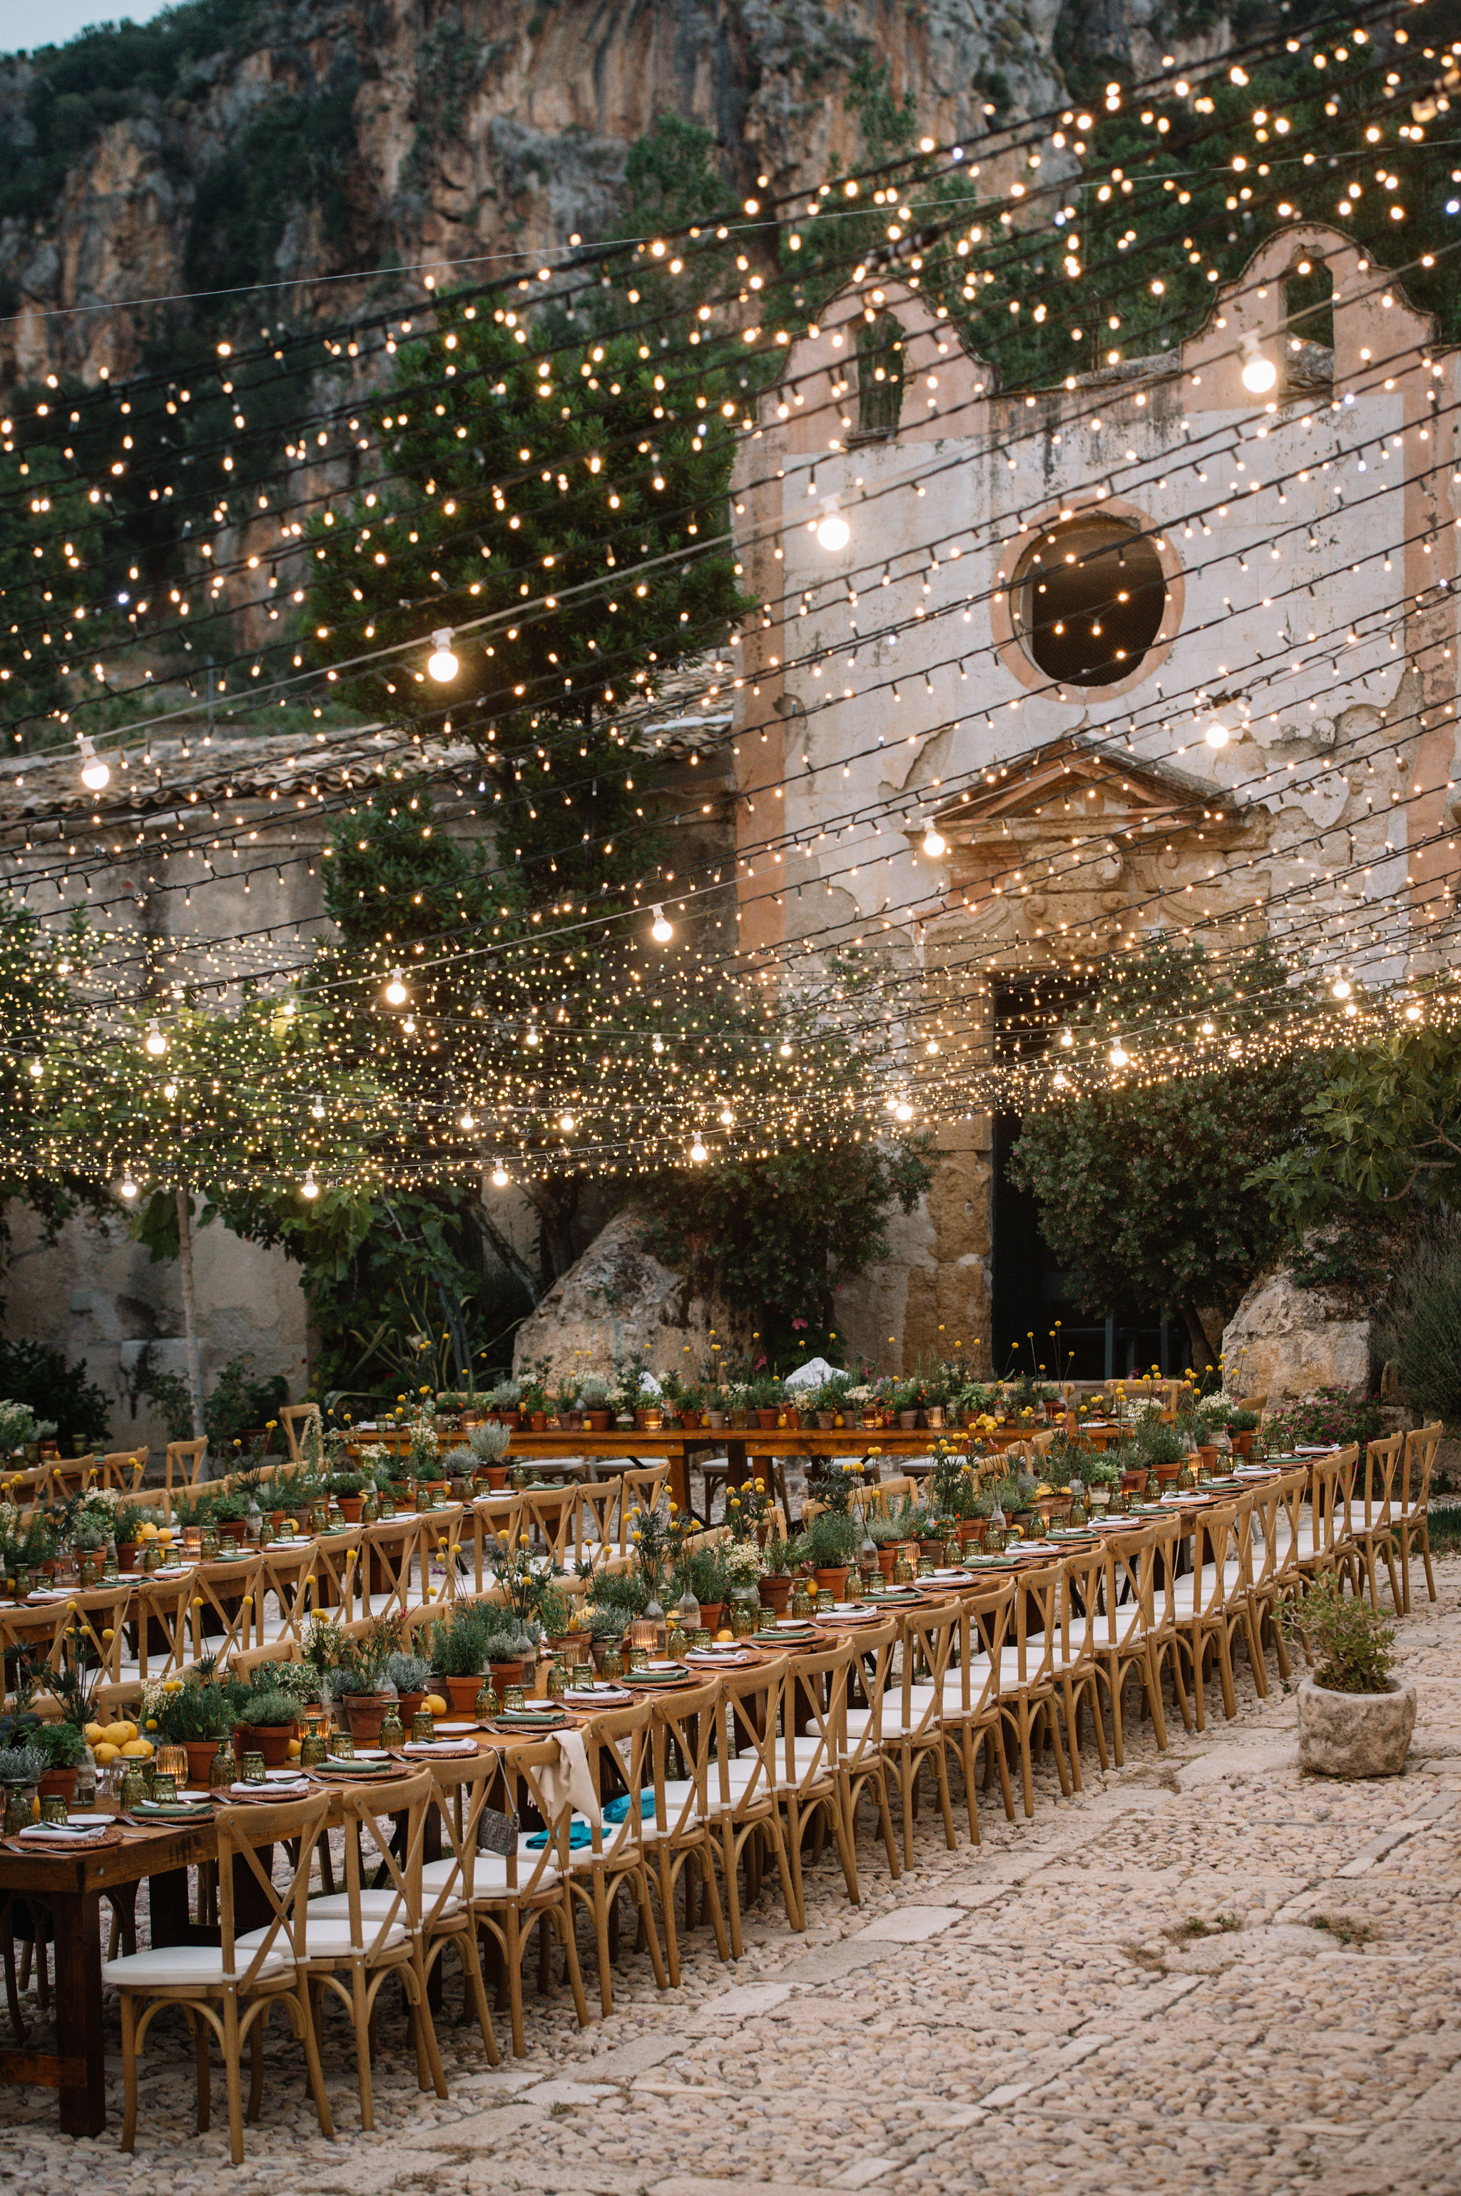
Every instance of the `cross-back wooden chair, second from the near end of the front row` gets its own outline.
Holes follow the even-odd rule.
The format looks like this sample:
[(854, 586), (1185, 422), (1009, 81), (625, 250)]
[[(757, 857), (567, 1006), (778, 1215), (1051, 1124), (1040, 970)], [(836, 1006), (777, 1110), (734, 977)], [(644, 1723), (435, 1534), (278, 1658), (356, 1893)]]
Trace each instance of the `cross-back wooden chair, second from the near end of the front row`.
[[(344, 1891), (309, 1902), (309, 1941), (301, 1959), (309, 2014), (318, 2033), (329, 1990), (351, 2016), (362, 2128), (375, 2126), (371, 2027), (386, 1976), (406, 1992), (419, 2088), (448, 2093), (421, 1941), (421, 1860), (434, 1790), (430, 1768), (388, 1785), (347, 1785), (340, 1794)], [(401, 1814), (404, 1834), (397, 1829)]]

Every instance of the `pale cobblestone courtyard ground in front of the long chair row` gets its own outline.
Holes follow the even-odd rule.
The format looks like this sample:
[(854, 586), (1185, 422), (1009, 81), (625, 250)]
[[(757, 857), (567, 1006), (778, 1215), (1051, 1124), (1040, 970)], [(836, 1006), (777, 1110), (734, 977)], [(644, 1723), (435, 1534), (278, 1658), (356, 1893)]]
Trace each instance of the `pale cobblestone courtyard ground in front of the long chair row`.
[[(145, 2062), (136, 2156), (114, 2124), (72, 2145), (44, 2091), (0, 2091), (0, 2178), (50, 2192), (375, 2196), (531, 2189), (717, 2196), (809, 2189), (1042, 2189), (1454, 2196), (1461, 2189), (1461, 1561), (1402, 1621), (1419, 1687), (1406, 1774), (1301, 1779), (1294, 1700), (1257, 1702), (1060, 1801), (1033, 1823), (943, 1847), (919, 1818), (917, 1867), (891, 1884), (860, 1840), (864, 1904), (827, 1851), (794, 1937), (766, 1895), (746, 1957), (689, 1939), (660, 1996), (625, 1950), (616, 2012), (579, 2033), (566, 1992), (529, 1985), (529, 2058), (491, 2073), (474, 2029), (441, 2042), (450, 2102), (423, 2097), (395, 2001), (384, 2005), (377, 2128), (358, 2132), (342, 2020), (325, 2073), (340, 2128), (318, 2137), (294, 2047), (270, 2033), (261, 2121), (228, 2167), (222, 2082), (193, 2132), (193, 2066), (167, 2016)], [(1422, 1583), (1424, 1590), (1424, 1583)], [(959, 1818), (959, 1785), (956, 1818)], [(965, 1818), (967, 1823), (967, 1818)], [(529, 1959), (529, 1974), (535, 1959)], [(592, 1957), (586, 1983), (594, 2001)], [(0, 2014), (2, 2023), (2, 2014)], [(507, 2016), (498, 2023), (507, 2053)]]

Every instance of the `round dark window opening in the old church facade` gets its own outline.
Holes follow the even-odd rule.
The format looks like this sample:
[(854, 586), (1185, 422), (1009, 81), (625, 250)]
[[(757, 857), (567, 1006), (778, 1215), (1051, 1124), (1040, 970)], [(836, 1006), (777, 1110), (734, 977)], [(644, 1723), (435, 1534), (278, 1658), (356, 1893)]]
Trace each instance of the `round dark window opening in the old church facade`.
[(1068, 518), (1020, 558), (1009, 608), (1049, 679), (1114, 685), (1160, 632), (1167, 578), (1152, 540), (1121, 518)]

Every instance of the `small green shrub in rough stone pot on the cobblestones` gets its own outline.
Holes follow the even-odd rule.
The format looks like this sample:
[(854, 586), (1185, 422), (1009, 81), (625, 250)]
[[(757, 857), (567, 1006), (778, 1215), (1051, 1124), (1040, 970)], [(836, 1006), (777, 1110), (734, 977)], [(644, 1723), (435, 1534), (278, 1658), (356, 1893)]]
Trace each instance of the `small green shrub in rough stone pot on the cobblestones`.
[(1415, 1687), (1391, 1678), (1395, 1625), (1318, 1579), (1283, 1610), (1312, 1676), (1299, 1680), (1299, 1761), (1316, 1777), (1400, 1777), (1415, 1730)]

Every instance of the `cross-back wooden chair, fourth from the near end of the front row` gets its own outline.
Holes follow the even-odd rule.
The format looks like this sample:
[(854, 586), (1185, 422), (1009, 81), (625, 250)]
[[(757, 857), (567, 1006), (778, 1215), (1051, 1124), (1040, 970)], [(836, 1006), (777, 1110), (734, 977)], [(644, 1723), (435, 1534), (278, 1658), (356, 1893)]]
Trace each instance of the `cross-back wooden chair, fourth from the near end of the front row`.
[[(588, 1998), (579, 1970), (579, 1948), (573, 1932), (573, 1900), (568, 1891), (573, 1801), (557, 1796), (562, 1757), (557, 1739), (533, 1739), (502, 1748), (502, 1781), (509, 1810), (505, 1851), (478, 1851), (472, 1875), (472, 1917), (485, 1928), (502, 1954), (509, 1992), (513, 2058), (526, 2051), (522, 2025), (522, 1954), (535, 1926), (548, 1926), (564, 1948), (564, 1965), (573, 1990), (579, 2027), (588, 2027)], [(555, 1779), (548, 1796), (546, 1779)], [(531, 1807), (544, 1825), (520, 1829), (522, 1810)], [(601, 1939), (605, 1957), (608, 1932)]]

